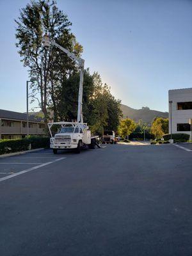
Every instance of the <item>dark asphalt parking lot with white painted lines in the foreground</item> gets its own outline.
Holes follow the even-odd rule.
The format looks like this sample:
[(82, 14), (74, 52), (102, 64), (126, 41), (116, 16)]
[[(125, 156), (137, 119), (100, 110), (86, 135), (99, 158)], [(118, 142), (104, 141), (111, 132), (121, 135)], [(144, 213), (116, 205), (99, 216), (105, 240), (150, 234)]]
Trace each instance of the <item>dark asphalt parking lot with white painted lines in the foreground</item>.
[(192, 255), (191, 166), (174, 145), (0, 158), (0, 255)]

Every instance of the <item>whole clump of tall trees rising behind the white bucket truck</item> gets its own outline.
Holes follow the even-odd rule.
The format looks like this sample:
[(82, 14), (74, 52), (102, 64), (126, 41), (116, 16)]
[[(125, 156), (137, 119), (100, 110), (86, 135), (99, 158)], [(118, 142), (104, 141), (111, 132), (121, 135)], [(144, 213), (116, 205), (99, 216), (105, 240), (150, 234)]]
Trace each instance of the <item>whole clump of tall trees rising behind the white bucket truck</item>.
[[(20, 10), (17, 24), (17, 48), (24, 67), (28, 67), (29, 77), (38, 81), (32, 85), (33, 100), (44, 113), (45, 124), (49, 111), (54, 121), (76, 120), (79, 91), (79, 67), (67, 54), (54, 46), (44, 47), (45, 33), (51, 40), (80, 57), (83, 47), (70, 32), (72, 23), (67, 15), (58, 9), (56, 1), (31, 1)], [(88, 122), (95, 133), (104, 129), (115, 130), (121, 115), (120, 100), (111, 95), (107, 84), (102, 84), (98, 73), (84, 71), (83, 84), (84, 122)]]

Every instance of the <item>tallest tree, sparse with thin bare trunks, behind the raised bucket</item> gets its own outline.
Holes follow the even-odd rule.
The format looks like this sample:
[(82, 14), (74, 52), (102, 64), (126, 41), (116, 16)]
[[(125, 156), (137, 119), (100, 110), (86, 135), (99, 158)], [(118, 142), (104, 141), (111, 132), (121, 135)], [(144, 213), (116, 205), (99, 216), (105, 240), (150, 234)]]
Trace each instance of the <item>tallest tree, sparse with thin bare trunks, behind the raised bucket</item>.
[(29, 68), (29, 77), (35, 76), (38, 79), (33, 84), (33, 99), (38, 100), (46, 123), (47, 107), (53, 108), (56, 113), (60, 82), (73, 72), (76, 65), (68, 60), (66, 54), (58, 54), (56, 47), (44, 48), (43, 35), (47, 33), (49, 38), (77, 55), (81, 54), (83, 48), (70, 33), (72, 23), (58, 9), (56, 1), (31, 1), (26, 8), (20, 10), (20, 16), (15, 22), (16, 46), (24, 67)]

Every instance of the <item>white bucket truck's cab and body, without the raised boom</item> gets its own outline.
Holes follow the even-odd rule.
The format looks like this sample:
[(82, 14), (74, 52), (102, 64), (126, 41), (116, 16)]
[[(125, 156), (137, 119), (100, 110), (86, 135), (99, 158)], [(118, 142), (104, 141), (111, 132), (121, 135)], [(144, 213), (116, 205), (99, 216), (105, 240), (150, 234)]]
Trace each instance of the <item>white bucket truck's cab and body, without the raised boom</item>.
[[(52, 125), (60, 125), (60, 131), (52, 136)], [(91, 136), (91, 131), (86, 123), (77, 122), (54, 122), (49, 123), (49, 132), (51, 134), (50, 147), (54, 154), (58, 149), (75, 149), (80, 153), (81, 148), (88, 146), (94, 149), (97, 145), (98, 136)]]

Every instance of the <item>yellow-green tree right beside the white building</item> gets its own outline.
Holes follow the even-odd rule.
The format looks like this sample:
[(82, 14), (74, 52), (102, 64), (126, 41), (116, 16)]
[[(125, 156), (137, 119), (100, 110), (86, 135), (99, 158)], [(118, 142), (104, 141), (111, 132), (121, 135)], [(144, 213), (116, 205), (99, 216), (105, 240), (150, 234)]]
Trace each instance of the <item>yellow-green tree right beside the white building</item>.
[(157, 139), (160, 139), (163, 136), (163, 134), (168, 133), (168, 127), (168, 118), (156, 117), (152, 122), (151, 132)]

